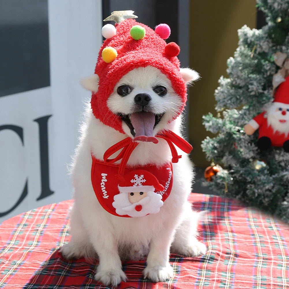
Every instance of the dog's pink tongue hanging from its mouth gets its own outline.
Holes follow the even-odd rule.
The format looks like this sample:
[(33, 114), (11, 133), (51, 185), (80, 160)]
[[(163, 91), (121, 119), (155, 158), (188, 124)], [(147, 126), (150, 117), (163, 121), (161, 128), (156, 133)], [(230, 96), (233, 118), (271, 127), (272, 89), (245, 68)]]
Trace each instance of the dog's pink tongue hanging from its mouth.
[(151, 112), (136, 112), (131, 114), (131, 124), (134, 127), (136, 135), (133, 141), (158, 143), (158, 139), (153, 136), (153, 127), (155, 125), (155, 115)]

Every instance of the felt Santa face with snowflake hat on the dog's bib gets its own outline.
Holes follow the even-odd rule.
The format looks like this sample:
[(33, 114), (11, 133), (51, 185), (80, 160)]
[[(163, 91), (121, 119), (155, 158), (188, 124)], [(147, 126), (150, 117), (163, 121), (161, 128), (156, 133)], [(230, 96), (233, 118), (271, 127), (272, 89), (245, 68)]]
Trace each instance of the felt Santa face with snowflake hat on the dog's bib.
[(114, 196), (112, 206), (118, 215), (143, 217), (156, 214), (163, 205), (164, 187), (157, 178), (144, 170), (127, 173), (118, 185), (119, 194)]

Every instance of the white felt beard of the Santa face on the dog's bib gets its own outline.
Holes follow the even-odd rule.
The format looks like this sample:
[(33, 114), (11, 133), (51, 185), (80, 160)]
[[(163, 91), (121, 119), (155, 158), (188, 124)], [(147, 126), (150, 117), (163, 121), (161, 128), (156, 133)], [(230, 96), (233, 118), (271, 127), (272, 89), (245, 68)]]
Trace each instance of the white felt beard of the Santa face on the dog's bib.
[[(114, 196), (112, 206), (118, 215), (128, 215), (131, 217), (143, 217), (147, 214), (156, 214), (163, 205), (162, 196), (155, 192), (148, 192), (147, 197), (131, 204), (128, 200), (128, 193), (120, 193)], [(141, 205), (141, 211), (136, 211), (136, 205)]]

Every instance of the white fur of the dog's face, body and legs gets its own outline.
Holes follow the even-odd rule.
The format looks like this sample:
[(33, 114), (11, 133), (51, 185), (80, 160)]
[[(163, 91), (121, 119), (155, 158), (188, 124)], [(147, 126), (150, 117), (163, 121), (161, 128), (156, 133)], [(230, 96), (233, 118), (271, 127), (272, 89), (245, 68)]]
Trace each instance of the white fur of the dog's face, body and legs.
[[(134, 87), (132, 94), (126, 97), (117, 95), (116, 89), (120, 84)], [(154, 94), (152, 87), (155, 85), (166, 86), (168, 94), (165, 97)], [(140, 92), (151, 95), (156, 113), (165, 112), (154, 134), (167, 128), (180, 135), (180, 117), (166, 123), (174, 116), (180, 105), (180, 98), (171, 88), (166, 76), (156, 68), (137, 68), (125, 75), (109, 97), (108, 106), (113, 112), (129, 113), (133, 109), (134, 95)], [(108, 213), (97, 201), (92, 188), (90, 153), (92, 151), (96, 158), (103, 159), (103, 153), (110, 146), (131, 136), (125, 123), (123, 129), (127, 135), (104, 125), (93, 116), (90, 108), (87, 109), (73, 164), (75, 203), (71, 216), (71, 241), (62, 247), (61, 251), (67, 257), (93, 257), (96, 251), (99, 266), (95, 278), (112, 286), (126, 279), (120, 255), (134, 259), (148, 253), (144, 276), (155, 282), (165, 281), (173, 276), (173, 268), (168, 262), (170, 247), (172, 251), (186, 256), (196, 256), (206, 251), (205, 245), (196, 239), (199, 215), (192, 211), (187, 201), (194, 178), (192, 164), (188, 155), (178, 149), (182, 158), (173, 164), (171, 194), (158, 214), (122, 218)], [(128, 164), (162, 165), (171, 158), (166, 141), (159, 139), (158, 144), (140, 142), (131, 154)]]

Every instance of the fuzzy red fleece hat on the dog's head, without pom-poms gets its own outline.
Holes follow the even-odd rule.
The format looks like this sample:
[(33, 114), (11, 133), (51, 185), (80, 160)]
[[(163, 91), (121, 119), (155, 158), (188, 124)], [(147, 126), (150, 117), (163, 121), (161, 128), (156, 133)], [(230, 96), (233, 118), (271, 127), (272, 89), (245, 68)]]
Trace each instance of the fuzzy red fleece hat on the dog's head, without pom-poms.
[[(144, 27), (145, 37), (143, 39), (134, 40), (131, 37), (130, 29), (134, 25)], [(166, 55), (165, 46), (166, 42), (153, 29), (142, 23), (126, 19), (116, 24), (116, 35), (103, 42), (95, 67), (95, 73), (99, 76), (99, 86), (98, 91), (92, 93), (91, 108), (96, 118), (124, 134), (121, 117), (116, 116), (108, 109), (107, 100), (116, 83), (125, 74), (134, 68), (146, 66), (158, 68), (171, 81), (173, 89), (182, 101), (182, 107), (178, 112), (181, 114), (187, 100), (186, 83), (179, 71), (178, 58)], [(106, 63), (101, 56), (106, 47), (112, 47), (117, 51), (117, 57), (110, 63)]]

